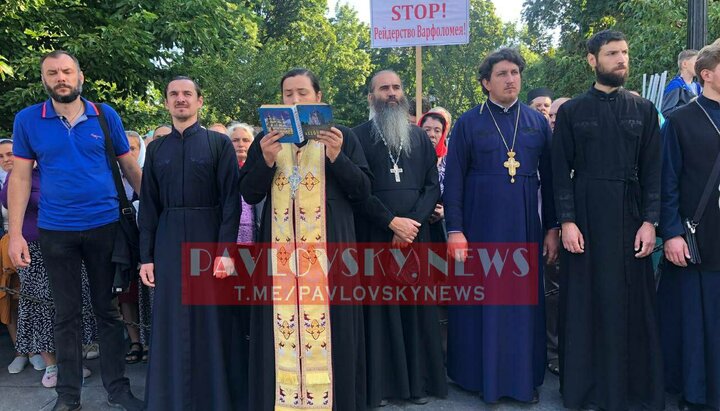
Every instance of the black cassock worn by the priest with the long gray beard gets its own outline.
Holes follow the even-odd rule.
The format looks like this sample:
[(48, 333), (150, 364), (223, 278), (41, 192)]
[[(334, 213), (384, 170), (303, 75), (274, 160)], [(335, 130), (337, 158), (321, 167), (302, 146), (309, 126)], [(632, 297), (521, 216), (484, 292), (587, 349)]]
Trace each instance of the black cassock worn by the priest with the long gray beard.
[[(388, 149), (372, 124), (353, 129), (373, 173), (372, 196), (357, 206), (358, 241), (389, 244), (390, 221), (407, 217), (422, 224), (415, 242), (429, 242), (428, 219), (440, 198), (435, 149), (421, 128), (411, 126), (412, 148), (398, 161), (403, 172), (397, 182)], [(366, 307), (365, 337), (369, 406), (386, 398), (447, 395), (437, 306)]]

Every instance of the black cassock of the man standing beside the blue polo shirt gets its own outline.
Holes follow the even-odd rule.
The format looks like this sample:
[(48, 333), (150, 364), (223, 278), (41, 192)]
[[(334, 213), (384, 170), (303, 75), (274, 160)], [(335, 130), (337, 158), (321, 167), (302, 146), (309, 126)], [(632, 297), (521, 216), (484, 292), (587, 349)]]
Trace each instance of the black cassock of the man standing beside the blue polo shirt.
[(230, 140), (197, 123), (148, 147), (138, 217), (141, 261), (155, 264), (148, 410), (232, 410), (246, 396), (231, 359), (235, 308), (183, 305), (180, 276), (183, 242), (235, 243), (238, 175)]

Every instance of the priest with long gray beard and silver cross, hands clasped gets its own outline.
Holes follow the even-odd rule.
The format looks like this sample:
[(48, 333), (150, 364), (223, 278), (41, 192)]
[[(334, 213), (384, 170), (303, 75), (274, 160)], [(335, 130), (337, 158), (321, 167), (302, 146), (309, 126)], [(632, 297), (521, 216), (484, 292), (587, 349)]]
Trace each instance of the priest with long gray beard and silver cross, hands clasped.
[[(369, 101), (373, 119), (353, 129), (373, 173), (372, 195), (358, 205), (358, 239), (429, 242), (429, 218), (440, 196), (435, 149), (424, 130), (409, 124), (395, 72), (372, 78)], [(447, 395), (438, 307), (366, 307), (365, 335), (369, 406), (387, 399), (424, 404), (428, 396)]]

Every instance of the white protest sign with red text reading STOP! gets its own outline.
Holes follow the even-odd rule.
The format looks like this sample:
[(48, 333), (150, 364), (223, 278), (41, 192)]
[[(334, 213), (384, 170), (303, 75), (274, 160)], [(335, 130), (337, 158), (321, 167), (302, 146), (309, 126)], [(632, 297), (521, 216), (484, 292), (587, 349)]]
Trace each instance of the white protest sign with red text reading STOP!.
[(470, 41), (469, 0), (371, 0), (372, 48)]

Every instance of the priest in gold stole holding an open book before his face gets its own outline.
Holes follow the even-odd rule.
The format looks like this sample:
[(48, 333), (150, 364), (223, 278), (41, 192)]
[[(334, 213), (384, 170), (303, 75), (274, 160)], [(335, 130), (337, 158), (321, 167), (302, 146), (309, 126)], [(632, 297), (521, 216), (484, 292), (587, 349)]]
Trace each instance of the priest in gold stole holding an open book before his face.
[[(316, 104), (322, 99), (320, 83), (307, 69), (289, 71), (280, 87), (284, 104)], [(280, 143), (281, 137), (277, 131), (259, 134), (240, 171), (243, 199), (248, 204), (265, 200), (259, 241), (267, 246), (282, 240), (276, 233), (288, 220), (283, 215), (289, 215), (293, 226), (285, 226), (287, 236), (300, 245), (306, 243), (305, 222), (313, 218), (319, 218), (326, 227), (318, 242), (331, 247), (354, 243), (351, 204), (370, 195), (370, 172), (355, 134), (335, 125), (331, 131), (321, 131), (317, 138), (300, 144)], [(298, 173), (302, 181), (293, 184)], [(319, 202), (312, 204), (316, 199)], [(307, 209), (320, 213), (308, 219), (303, 211)], [(325, 339), (327, 332), (323, 332), (310, 339), (312, 329), (296, 319), (323, 309), (329, 310), (323, 329), (330, 330), (331, 338)], [(288, 311), (292, 314), (287, 315)], [(283, 320), (276, 321), (280, 318)], [(285, 303), (252, 307), (251, 410), (364, 410), (365, 384), (362, 306)]]

